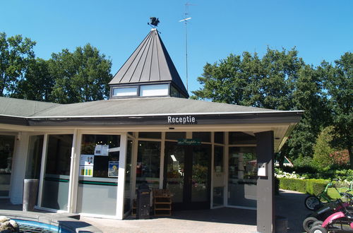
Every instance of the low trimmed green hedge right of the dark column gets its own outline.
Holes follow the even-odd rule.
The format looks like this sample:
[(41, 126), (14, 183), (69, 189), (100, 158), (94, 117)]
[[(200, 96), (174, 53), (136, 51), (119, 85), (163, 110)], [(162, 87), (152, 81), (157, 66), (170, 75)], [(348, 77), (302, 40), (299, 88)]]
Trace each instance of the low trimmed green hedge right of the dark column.
[(280, 189), (299, 191), (301, 193), (309, 193), (313, 195), (321, 193), (329, 182), (324, 179), (278, 179), (280, 180)]

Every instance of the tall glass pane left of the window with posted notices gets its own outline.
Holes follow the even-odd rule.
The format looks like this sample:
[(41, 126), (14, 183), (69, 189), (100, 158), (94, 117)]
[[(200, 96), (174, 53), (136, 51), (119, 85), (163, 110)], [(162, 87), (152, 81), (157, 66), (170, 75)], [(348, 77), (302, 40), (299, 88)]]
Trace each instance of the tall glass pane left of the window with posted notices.
[(42, 207), (67, 210), (72, 134), (49, 135)]

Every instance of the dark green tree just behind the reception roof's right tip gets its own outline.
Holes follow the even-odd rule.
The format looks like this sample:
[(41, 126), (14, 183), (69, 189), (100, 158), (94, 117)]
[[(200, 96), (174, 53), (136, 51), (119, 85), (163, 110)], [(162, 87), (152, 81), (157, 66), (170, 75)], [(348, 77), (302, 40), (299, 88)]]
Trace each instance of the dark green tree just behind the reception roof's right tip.
[(312, 66), (303, 66), (293, 82), (292, 100), (294, 109), (304, 114), (292, 132), (287, 155), (292, 159), (313, 155), (313, 145), (321, 129), (330, 124), (328, 100), (323, 92), (323, 76)]

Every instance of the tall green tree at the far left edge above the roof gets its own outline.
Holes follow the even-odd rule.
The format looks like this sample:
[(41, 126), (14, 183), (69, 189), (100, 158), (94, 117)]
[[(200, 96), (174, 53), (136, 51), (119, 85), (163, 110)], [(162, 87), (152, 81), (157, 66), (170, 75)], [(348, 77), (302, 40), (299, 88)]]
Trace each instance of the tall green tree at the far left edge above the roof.
[(35, 42), (21, 35), (6, 38), (0, 32), (0, 96), (11, 96), (18, 88), (30, 62), (35, 58)]

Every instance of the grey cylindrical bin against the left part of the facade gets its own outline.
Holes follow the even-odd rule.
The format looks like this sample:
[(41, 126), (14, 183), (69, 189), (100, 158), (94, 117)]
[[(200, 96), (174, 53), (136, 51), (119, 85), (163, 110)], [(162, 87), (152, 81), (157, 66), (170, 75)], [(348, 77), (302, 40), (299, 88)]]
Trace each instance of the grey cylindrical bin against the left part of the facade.
[(23, 181), (23, 211), (35, 209), (37, 201), (38, 179), (25, 179)]

